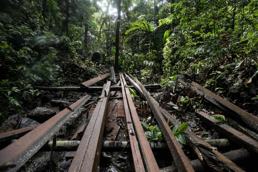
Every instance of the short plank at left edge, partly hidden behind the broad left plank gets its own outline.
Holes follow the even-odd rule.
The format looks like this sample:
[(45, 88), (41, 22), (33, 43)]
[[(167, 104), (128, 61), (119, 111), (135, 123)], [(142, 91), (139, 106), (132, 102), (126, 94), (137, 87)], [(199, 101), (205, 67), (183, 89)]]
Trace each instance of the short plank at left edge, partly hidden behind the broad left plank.
[(0, 134), (0, 143), (7, 142), (7, 141), (10, 141), (12, 139), (18, 139), (21, 136), (24, 136), (26, 133), (33, 130), (34, 128), (37, 128), (39, 125), (24, 127), (24, 128), (21, 128), (21, 129), (1, 133)]

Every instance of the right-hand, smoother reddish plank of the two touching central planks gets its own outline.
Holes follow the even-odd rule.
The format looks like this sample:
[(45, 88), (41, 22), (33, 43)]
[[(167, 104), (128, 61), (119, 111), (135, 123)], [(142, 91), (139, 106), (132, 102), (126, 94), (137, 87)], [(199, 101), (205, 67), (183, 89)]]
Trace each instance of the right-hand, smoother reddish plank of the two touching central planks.
[[(121, 81), (121, 85), (125, 86), (126, 85), (126, 80), (123, 76), (123, 74), (120, 74), (120, 79), (123, 80), (123, 82)], [(123, 91), (123, 89), (122, 89)], [(132, 101), (132, 97), (130, 95), (130, 90), (128, 89), (128, 87), (125, 87), (125, 94), (123, 95), (123, 97), (127, 98), (128, 101), (128, 106), (131, 112), (131, 116), (132, 116), (132, 121), (133, 121), (133, 125), (135, 127), (135, 134), (138, 138), (138, 142), (139, 142), (139, 146), (141, 149), (141, 153), (143, 156), (143, 160), (144, 163), (146, 165), (146, 171), (148, 172), (158, 172), (159, 171), (159, 166), (157, 164), (157, 161), (153, 155), (153, 152), (151, 150), (150, 144), (148, 142), (148, 139), (146, 138), (145, 132), (142, 128), (141, 122), (139, 120), (137, 111), (135, 109), (135, 105)], [(126, 101), (126, 100), (124, 100)]]

